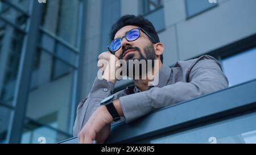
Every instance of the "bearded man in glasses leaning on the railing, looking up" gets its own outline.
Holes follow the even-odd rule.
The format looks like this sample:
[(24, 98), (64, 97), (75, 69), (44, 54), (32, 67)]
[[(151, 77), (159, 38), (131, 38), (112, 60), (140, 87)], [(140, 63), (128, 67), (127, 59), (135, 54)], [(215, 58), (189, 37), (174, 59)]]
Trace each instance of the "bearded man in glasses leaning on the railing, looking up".
[[(211, 56), (178, 61), (172, 68), (164, 66), (164, 45), (152, 23), (143, 16), (122, 16), (112, 26), (110, 40), (109, 52), (98, 56), (103, 79), (96, 77), (88, 97), (77, 108), (73, 135), (78, 135), (80, 143), (92, 143), (93, 140), (104, 143), (110, 133), (110, 124), (120, 117), (119, 121), (129, 123), (159, 108), (228, 87), (228, 79), (220, 64)], [(113, 56), (114, 63), (130, 60), (156, 62), (146, 72), (151, 72), (154, 79), (158, 77), (158, 81), (150, 86), (154, 79), (142, 72), (139, 72), (139, 78), (134, 78), (129, 69), (135, 67), (127, 64), (129, 71), (124, 75), (132, 78), (134, 85), (113, 94), (117, 78), (110, 78), (110, 74), (120, 68), (112, 65), (110, 57)], [(102, 60), (107, 63), (101, 63)], [(146, 66), (150, 64), (146, 62)], [(139, 69), (143, 70), (143, 67)]]

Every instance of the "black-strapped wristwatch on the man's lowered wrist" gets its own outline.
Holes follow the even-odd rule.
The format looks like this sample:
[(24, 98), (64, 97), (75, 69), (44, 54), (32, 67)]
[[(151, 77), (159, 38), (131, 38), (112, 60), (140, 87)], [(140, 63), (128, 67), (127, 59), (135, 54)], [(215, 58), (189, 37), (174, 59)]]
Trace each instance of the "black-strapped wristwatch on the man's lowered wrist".
[(113, 104), (114, 95), (110, 95), (109, 97), (101, 100), (101, 105), (105, 105), (109, 111), (109, 114), (112, 115), (114, 122), (117, 122), (120, 119), (120, 116), (117, 113), (117, 110)]

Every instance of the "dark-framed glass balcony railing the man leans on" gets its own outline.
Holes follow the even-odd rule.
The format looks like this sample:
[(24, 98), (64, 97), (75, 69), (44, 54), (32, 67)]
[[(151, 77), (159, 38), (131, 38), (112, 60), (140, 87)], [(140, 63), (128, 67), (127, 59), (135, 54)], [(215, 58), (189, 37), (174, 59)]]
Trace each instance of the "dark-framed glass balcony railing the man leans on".
[(256, 79), (165, 107), (113, 125), (106, 143), (256, 143), (255, 94)]

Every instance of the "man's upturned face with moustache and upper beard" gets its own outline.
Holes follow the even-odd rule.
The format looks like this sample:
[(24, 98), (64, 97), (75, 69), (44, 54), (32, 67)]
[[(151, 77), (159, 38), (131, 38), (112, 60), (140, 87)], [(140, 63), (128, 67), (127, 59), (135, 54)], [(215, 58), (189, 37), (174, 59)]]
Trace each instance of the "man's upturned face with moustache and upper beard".
[[(130, 31), (133, 28), (138, 28), (137, 26), (125, 26), (122, 27), (117, 33), (115, 33), (115, 37), (123, 37), (126, 35), (126, 32)], [(140, 30), (141, 31), (141, 30)], [(121, 60), (155, 60), (155, 51), (154, 44), (150, 41), (145, 33), (141, 31), (141, 35), (137, 40), (127, 41), (123, 38), (121, 43), (121, 48), (115, 52), (115, 56), (117, 56)]]

